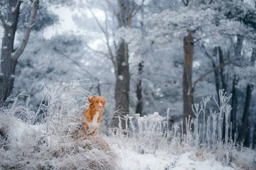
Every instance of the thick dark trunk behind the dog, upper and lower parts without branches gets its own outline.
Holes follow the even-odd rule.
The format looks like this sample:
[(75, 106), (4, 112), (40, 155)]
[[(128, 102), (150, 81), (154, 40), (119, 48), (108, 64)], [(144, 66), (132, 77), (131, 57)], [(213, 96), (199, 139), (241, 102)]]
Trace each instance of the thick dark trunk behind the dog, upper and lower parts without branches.
[[(132, 19), (132, 11), (130, 11), (129, 0), (117, 0), (119, 11), (117, 13), (118, 28), (130, 27)], [(129, 55), (128, 44), (125, 40), (120, 40), (116, 49), (116, 57), (113, 57), (115, 74), (116, 74), (116, 88), (115, 100), (116, 108), (121, 109), (118, 115), (121, 118), (122, 128), (125, 128), (125, 121), (123, 120), (126, 114), (129, 114), (129, 91), (130, 91), (130, 72), (129, 72)], [(118, 127), (119, 119), (113, 119), (113, 126)]]

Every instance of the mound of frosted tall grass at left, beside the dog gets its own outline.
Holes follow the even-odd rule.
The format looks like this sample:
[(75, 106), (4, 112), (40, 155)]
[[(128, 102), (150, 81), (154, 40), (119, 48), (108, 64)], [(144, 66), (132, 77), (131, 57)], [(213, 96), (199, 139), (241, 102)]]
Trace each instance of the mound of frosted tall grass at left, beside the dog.
[(83, 85), (81, 81), (61, 87), (43, 85), (43, 99), (33, 116), (35, 120), (43, 114), (38, 125), (15, 118), (17, 113), (32, 115), (17, 98), (11, 108), (1, 108), (0, 169), (119, 169), (118, 154), (105, 146), (101, 133), (82, 138), (87, 106), (78, 107), (77, 103), (89, 95)]

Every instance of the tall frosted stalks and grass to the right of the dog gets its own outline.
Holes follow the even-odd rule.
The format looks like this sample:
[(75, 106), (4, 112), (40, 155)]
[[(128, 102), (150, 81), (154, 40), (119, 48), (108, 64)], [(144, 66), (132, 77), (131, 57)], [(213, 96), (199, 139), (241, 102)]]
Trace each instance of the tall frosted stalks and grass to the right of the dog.
[[(225, 138), (222, 139), (223, 117), (229, 118), (231, 106), (228, 104), (231, 96), (226, 96), (224, 91), (219, 92), (220, 104), (215, 96), (208, 96), (202, 99), (202, 102), (192, 106), (195, 118), (186, 120), (186, 131), (177, 125), (172, 129), (167, 129), (168, 122), (166, 118), (160, 116), (157, 112), (147, 116), (140, 117), (136, 114), (135, 118), (127, 115), (125, 120), (130, 123), (129, 129), (131, 135), (118, 134), (118, 138), (126, 145), (134, 148), (140, 154), (155, 154), (159, 150), (180, 156), (183, 153), (195, 152), (196, 160), (215, 159), (221, 162), (223, 166), (241, 167), (247, 170), (256, 169), (256, 152), (248, 152), (236, 140), (231, 138), (231, 123), (225, 122)], [(207, 108), (207, 103), (212, 99), (218, 106), (218, 111)], [(207, 109), (209, 116), (206, 117)], [(167, 117), (169, 113), (167, 113)], [(202, 116), (203, 123), (199, 124), (198, 119)], [(129, 121), (128, 121), (129, 120)], [(135, 127), (134, 124), (138, 126)], [(182, 125), (181, 122), (180, 125)], [(192, 126), (194, 131), (192, 131)], [(246, 158), (245, 158), (246, 157)]]

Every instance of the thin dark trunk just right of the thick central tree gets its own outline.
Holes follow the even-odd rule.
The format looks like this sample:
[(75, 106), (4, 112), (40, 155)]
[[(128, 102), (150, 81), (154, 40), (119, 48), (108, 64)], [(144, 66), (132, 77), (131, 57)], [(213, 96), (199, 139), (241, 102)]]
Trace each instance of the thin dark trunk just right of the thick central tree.
[(143, 116), (142, 111), (143, 111), (143, 100), (142, 100), (142, 73), (143, 73), (143, 61), (139, 63), (139, 78), (138, 78), (138, 83), (137, 83), (137, 98), (138, 98), (138, 103), (136, 107), (136, 113), (140, 113), (141, 116)]

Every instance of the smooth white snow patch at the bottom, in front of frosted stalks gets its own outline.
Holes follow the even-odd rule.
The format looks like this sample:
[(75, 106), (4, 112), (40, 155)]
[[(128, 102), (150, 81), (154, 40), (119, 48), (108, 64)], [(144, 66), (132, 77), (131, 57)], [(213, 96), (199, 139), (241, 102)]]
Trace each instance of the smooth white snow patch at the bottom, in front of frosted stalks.
[[(125, 150), (121, 164), (125, 170), (164, 170), (164, 167), (178, 156), (170, 153), (157, 151), (155, 154), (139, 154), (131, 149)], [(215, 159), (205, 161), (192, 160), (195, 158), (194, 152), (183, 153), (177, 161), (176, 167), (173, 170), (235, 170), (232, 167), (224, 167), (221, 162)]]

